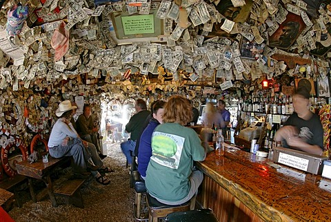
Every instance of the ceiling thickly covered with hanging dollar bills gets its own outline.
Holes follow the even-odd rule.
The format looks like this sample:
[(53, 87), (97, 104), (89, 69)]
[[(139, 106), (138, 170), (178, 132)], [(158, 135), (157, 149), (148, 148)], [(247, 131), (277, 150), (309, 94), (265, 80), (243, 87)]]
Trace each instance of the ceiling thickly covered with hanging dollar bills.
[(325, 79), (329, 3), (2, 1), (0, 89), (215, 93), (282, 75)]

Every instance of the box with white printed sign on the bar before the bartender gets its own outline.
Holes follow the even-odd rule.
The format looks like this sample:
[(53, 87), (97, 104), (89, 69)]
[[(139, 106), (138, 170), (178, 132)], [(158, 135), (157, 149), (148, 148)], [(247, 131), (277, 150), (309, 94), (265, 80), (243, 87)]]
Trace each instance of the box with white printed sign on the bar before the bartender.
[(275, 147), (272, 158), (272, 161), (275, 163), (281, 163), (317, 175), (322, 173), (323, 160), (328, 160), (328, 158), (326, 156), (308, 154), (296, 149), (283, 147)]

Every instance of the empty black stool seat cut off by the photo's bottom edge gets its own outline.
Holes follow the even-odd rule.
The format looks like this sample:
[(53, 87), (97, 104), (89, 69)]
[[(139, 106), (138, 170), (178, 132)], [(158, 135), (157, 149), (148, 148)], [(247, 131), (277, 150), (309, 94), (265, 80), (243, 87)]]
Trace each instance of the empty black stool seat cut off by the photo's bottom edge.
[(168, 214), (165, 222), (218, 222), (217, 217), (210, 209), (190, 210), (186, 212), (174, 212)]

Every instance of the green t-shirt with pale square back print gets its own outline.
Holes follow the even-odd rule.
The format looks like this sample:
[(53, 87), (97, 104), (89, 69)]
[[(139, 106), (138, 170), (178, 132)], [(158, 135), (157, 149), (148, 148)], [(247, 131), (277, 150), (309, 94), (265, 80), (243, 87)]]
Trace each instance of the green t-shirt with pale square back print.
[(197, 133), (178, 123), (160, 124), (152, 135), (152, 156), (146, 172), (148, 192), (164, 201), (181, 201), (190, 191), (193, 161), (205, 159)]

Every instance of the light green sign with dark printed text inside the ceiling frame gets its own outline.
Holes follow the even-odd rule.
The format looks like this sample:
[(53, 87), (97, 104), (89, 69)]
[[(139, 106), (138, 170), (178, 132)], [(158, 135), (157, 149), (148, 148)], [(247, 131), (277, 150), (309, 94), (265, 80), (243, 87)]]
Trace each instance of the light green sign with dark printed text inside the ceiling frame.
[(154, 15), (122, 16), (124, 35), (154, 33)]

